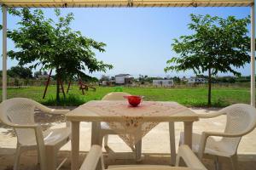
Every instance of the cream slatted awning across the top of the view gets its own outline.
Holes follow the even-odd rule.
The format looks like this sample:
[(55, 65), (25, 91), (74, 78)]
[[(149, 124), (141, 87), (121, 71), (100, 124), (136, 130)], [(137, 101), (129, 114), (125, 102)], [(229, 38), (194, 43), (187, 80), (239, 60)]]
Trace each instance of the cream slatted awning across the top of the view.
[(7, 7), (247, 7), (253, 0), (0, 0)]

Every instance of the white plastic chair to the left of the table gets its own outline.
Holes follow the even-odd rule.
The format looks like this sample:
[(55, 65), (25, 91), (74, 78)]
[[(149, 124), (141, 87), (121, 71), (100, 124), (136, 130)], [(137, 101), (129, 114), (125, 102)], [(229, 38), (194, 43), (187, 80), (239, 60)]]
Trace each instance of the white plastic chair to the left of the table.
[(55, 169), (57, 151), (70, 139), (69, 127), (43, 132), (42, 127), (34, 121), (36, 108), (49, 114), (66, 114), (69, 111), (49, 109), (26, 98), (7, 99), (0, 104), (0, 121), (14, 127), (17, 135), (15, 170), (19, 168), (20, 154), (26, 150), (38, 150), (41, 170)]

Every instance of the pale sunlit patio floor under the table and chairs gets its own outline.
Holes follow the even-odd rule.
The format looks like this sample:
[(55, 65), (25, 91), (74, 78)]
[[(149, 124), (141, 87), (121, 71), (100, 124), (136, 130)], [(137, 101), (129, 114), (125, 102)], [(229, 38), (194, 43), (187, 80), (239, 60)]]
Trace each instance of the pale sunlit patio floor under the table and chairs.
[[(206, 113), (217, 111), (218, 109), (205, 108), (191, 108), (197, 113)], [(205, 119), (194, 123), (194, 132), (201, 133), (202, 131), (217, 131), (224, 129), (225, 118), (219, 116), (217, 118)], [(65, 123), (55, 123), (53, 127), (62, 127)], [(176, 144), (178, 145), (179, 133), (183, 131), (183, 123), (176, 122)], [(16, 138), (12, 137), (10, 133), (5, 134), (6, 129), (0, 127), (0, 170), (12, 169)], [(110, 135), (108, 139), (110, 151), (105, 154), (106, 165), (113, 164), (135, 164), (132, 159), (133, 154), (131, 149), (116, 135)], [(70, 143), (61, 148), (59, 155), (61, 158), (68, 156), (70, 150)], [(80, 150), (81, 161), (84, 159), (85, 153), (90, 150), (90, 122), (82, 122), (80, 127)], [(104, 150), (104, 149), (103, 149)], [(169, 164), (170, 161), (170, 146), (168, 123), (160, 123), (154, 127), (143, 138), (143, 155), (142, 164)], [(106, 151), (106, 150), (104, 150)], [(239, 155), (239, 169), (251, 170), (254, 168), (256, 162), (256, 130), (247, 134), (241, 139), (241, 144), (238, 148)], [(20, 169), (38, 169), (37, 167), (37, 153), (35, 151), (26, 152), (21, 156)], [(223, 162), (223, 169), (230, 169), (229, 160), (221, 159)], [(205, 159), (204, 163), (209, 169), (213, 169), (213, 162), (210, 159)], [(70, 161), (67, 161), (61, 169), (70, 169)], [(256, 168), (255, 168), (256, 169)]]

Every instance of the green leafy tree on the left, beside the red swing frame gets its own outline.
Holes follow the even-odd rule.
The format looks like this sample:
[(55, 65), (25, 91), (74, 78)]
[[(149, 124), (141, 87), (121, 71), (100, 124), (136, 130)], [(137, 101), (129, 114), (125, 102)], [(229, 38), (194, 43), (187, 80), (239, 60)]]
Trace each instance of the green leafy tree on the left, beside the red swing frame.
[(57, 102), (60, 100), (60, 80), (85, 77), (84, 71), (91, 73), (113, 68), (96, 59), (94, 50), (104, 52), (105, 43), (84, 37), (80, 31), (70, 28), (72, 13), (61, 16), (60, 9), (55, 9), (58, 21), (46, 19), (41, 9), (12, 8), (9, 13), (21, 19), (17, 23), (20, 27), (8, 32), (17, 49), (9, 51), (9, 57), (17, 59), (19, 65), (55, 69)]

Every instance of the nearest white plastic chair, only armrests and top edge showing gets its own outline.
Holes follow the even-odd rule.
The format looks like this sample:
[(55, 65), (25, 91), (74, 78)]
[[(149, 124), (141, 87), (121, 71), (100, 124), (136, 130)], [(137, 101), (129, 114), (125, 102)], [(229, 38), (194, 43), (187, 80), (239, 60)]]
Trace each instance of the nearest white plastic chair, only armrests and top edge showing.
[[(160, 165), (123, 165), (123, 166), (109, 166), (110, 170), (207, 170), (206, 167), (199, 161), (192, 150), (187, 145), (181, 145), (177, 152), (176, 166), (179, 165), (180, 159), (183, 159), (187, 167), (170, 167)], [(90, 152), (85, 157), (80, 170), (96, 170), (101, 167), (105, 170), (102, 148), (99, 145), (93, 145)]]

